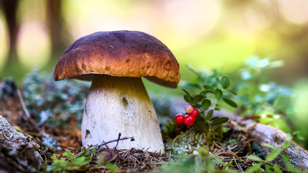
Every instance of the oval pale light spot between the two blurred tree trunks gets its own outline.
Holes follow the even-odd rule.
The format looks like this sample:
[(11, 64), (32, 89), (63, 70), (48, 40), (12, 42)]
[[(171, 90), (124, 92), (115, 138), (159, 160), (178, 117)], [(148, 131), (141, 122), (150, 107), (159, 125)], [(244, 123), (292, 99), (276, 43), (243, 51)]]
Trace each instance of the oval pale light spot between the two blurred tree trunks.
[(50, 58), (48, 31), (41, 23), (26, 23), (18, 33), (17, 55), (27, 68), (44, 66)]

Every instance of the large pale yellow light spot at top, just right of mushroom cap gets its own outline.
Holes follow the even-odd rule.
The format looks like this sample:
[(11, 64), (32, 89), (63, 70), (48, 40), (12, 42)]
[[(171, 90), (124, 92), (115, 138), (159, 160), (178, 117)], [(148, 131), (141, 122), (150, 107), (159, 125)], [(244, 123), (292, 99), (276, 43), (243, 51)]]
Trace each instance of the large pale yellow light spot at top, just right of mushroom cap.
[[(162, 20), (160, 38), (168, 47), (183, 48), (204, 39), (215, 27), (222, 10), (216, 0), (164, 1), (157, 14)], [(171, 47), (172, 46), (172, 47)]]

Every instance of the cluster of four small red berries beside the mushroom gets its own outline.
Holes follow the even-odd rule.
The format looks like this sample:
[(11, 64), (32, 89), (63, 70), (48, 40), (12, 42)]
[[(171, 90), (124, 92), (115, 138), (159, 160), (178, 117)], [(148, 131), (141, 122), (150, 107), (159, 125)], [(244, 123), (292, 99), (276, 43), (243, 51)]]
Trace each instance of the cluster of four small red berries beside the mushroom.
[(186, 126), (193, 126), (196, 123), (196, 117), (199, 115), (199, 111), (193, 108), (192, 105), (186, 105), (185, 112), (187, 113), (185, 117), (183, 114), (176, 115), (176, 123), (179, 125), (185, 124)]

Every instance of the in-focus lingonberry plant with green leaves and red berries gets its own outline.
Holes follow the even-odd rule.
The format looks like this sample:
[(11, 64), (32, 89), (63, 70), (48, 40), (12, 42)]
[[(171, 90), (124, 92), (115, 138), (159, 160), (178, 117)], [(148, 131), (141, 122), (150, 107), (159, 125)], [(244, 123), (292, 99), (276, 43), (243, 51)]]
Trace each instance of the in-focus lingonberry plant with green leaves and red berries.
[[(223, 101), (231, 107), (237, 107), (237, 104), (228, 98), (230, 94), (236, 95), (234, 91), (229, 89), (231, 82), (230, 78), (226, 75), (220, 77), (217, 74), (204, 77), (200, 72), (193, 70), (192, 67), (187, 67), (193, 71), (193, 73), (197, 74), (199, 83), (195, 83), (194, 85), (197, 86), (200, 91), (199, 94), (192, 95), (187, 90), (182, 89), (185, 92), (184, 100), (189, 103), (189, 105), (186, 105), (184, 108), (185, 112), (188, 114), (184, 117), (184, 124), (186, 126), (195, 125), (198, 131), (205, 133), (209, 133), (212, 129), (219, 131), (222, 124), (229, 119), (227, 117), (212, 117), (215, 110), (220, 110), (218, 103)], [(179, 117), (176, 119), (176, 123), (182, 123), (178, 120)]]

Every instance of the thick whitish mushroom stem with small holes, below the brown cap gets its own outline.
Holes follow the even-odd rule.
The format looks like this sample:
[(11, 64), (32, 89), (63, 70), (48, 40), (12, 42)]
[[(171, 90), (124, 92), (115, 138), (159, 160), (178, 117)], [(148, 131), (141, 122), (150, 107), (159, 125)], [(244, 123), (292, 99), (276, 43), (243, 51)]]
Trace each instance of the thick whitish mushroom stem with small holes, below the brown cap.
[(118, 149), (165, 151), (156, 112), (141, 78), (95, 74), (83, 112), (83, 147), (116, 139), (119, 132), (134, 136), (135, 141), (119, 141)]

